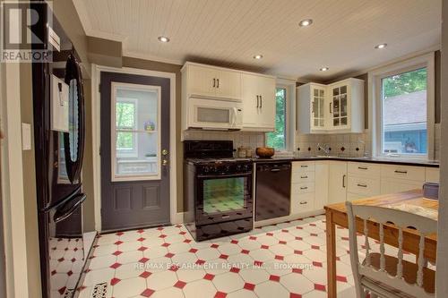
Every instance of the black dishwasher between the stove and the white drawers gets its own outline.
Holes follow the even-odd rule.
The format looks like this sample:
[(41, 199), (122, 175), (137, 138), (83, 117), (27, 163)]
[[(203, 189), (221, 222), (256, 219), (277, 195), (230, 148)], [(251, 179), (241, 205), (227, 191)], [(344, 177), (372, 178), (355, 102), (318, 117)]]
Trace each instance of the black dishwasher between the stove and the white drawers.
[(256, 164), (255, 221), (289, 216), (291, 163)]

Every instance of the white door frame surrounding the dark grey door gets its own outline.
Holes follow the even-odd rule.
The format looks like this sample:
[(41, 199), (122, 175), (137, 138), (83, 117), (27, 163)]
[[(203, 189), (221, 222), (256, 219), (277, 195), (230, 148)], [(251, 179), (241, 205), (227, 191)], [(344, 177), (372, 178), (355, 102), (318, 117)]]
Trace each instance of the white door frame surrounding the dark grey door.
[(100, 146), (100, 93), (101, 72), (116, 72), (144, 76), (156, 76), (169, 79), (169, 221), (172, 225), (182, 222), (182, 214), (177, 214), (177, 152), (176, 152), (176, 73), (157, 72), (130, 67), (116, 68), (91, 64), (91, 123), (92, 123), (92, 159), (93, 192), (95, 207), (95, 230), (101, 231), (101, 157)]

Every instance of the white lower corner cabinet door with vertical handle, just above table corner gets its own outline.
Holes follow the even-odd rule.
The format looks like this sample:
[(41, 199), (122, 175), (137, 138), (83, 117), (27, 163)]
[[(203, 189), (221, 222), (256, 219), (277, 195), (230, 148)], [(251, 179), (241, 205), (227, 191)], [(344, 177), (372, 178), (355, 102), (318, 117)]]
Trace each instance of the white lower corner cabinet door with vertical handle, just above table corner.
[(328, 173), (328, 204), (347, 199), (347, 162), (330, 161)]

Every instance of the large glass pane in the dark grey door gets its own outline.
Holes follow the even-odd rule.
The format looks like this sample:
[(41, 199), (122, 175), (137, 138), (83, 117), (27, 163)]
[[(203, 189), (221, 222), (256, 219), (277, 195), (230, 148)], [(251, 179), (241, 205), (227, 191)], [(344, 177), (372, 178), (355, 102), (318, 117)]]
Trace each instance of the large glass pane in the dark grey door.
[(159, 89), (125, 86), (114, 94), (113, 180), (158, 179)]

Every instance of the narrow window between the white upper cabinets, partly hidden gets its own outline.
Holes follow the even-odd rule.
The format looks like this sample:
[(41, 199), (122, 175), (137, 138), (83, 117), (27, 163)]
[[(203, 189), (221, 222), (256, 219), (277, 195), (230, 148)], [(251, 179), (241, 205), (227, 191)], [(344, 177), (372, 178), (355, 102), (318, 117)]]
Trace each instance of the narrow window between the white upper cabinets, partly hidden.
[(266, 133), (266, 146), (278, 151), (287, 149), (287, 89), (277, 88), (275, 92), (275, 131)]

